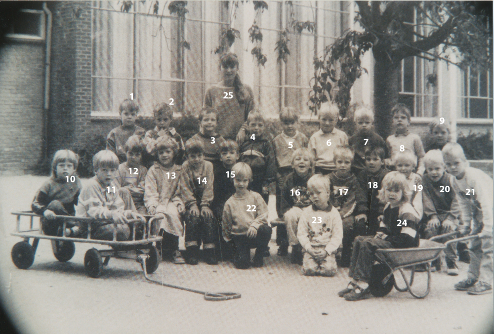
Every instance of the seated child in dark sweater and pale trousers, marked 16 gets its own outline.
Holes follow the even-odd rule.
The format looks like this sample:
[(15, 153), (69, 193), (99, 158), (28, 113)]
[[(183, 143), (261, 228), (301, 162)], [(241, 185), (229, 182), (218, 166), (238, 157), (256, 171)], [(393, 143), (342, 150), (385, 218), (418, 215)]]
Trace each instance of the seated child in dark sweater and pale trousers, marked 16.
[[(293, 171), (284, 179), (281, 190), (280, 210), (288, 232), (288, 244), (280, 245), (280, 249), (286, 247), (282, 251), (288, 252), (288, 246), (291, 246), (291, 263), (302, 265), (302, 246), (298, 242), (297, 227), (302, 209), (312, 204), (307, 194), (307, 181), (312, 177), (314, 169), (312, 152), (308, 148), (295, 150), (291, 158), (291, 166)], [(280, 227), (277, 226), (276, 229), (278, 228)]]

